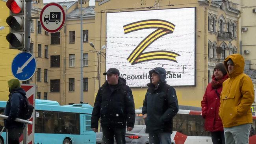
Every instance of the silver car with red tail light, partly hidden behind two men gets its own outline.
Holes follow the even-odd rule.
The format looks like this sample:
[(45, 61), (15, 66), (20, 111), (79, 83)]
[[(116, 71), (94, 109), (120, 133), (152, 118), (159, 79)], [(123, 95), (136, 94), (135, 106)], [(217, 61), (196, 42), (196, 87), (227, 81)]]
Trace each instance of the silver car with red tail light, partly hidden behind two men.
[[(132, 131), (126, 131), (126, 144), (149, 144), (148, 133), (145, 132), (145, 129), (145, 125), (135, 125)], [(175, 141), (173, 139), (171, 139), (171, 141), (171, 144), (175, 144)], [(104, 144), (102, 140), (102, 132), (96, 133), (96, 144)]]

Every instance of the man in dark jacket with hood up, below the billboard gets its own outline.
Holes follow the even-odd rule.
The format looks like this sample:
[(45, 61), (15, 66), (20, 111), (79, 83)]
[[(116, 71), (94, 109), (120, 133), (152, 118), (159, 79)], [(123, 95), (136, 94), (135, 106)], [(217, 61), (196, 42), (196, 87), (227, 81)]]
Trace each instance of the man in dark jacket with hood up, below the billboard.
[(171, 144), (173, 117), (178, 113), (176, 91), (167, 85), (164, 68), (149, 71), (150, 83), (143, 101), (142, 114), (150, 144)]

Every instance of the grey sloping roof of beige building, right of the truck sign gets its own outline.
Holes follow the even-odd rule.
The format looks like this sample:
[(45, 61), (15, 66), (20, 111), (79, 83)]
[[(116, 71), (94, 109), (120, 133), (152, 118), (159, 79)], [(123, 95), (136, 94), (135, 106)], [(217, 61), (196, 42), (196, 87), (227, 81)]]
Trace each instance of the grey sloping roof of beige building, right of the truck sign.
[[(82, 8), (83, 17), (95, 17), (95, 6), (88, 6)], [(80, 18), (80, 8), (74, 9), (69, 14), (67, 14), (67, 18)]]

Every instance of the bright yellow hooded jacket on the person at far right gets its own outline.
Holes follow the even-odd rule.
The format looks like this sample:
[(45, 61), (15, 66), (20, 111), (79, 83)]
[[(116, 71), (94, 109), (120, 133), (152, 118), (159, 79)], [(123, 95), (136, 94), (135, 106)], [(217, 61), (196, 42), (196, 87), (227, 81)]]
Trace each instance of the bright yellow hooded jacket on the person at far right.
[(252, 80), (243, 73), (245, 60), (239, 54), (229, 55), (224, 60), (227, 71), (229, 59), (234, 62), (234, 71), (228, 73), (230, 78), (224, 81), (220, 96), (219, 116), (223, 127), (252, 123), (250, 107), (254, 100), (254, 90)]

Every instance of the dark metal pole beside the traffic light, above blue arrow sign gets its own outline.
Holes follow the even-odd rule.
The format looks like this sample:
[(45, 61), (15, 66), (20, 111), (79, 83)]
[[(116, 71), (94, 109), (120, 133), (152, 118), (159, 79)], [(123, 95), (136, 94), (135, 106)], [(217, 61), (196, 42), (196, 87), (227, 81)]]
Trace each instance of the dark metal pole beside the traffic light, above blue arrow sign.
[(25, 0), (25, 24), (24, 24), (24, 51), (30, 51), (30, 21), (31, 21), (31, 9), (32, 0)]

